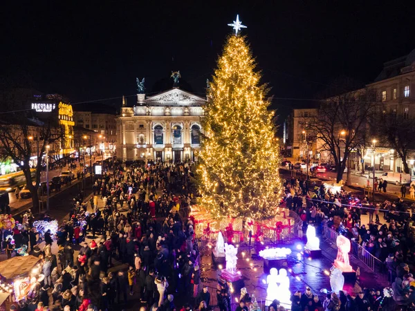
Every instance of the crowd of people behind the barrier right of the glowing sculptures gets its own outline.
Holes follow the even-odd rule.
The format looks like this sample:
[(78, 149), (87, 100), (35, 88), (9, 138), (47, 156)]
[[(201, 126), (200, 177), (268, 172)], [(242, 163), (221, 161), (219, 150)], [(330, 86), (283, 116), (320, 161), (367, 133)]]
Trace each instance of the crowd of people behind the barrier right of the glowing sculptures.
[[(415, 280), (411, 273), (415, 265), (415, 235), (411, 229), (415, 205), (408, 205), (402, 198), (374, 204), (367, 197), (360, 200), (346, 191), (334, 194), (324, 185), (309, 186), (305, 180), (286, 180), (284, 187), (286, 207), (302, 218), (304, 230), (310, 223), (320, 232), (324, 226), (329, 227), (351, 240), (351, 254), (369, 252), (378, 258), (376, 272), (387, 275), (392, 284), (393, 299), (388, 298), (388, 304), (415, 310)], [(369, 223), (362, 222), (363, 214), (369, 216)], [(380, 216), (383, 223), (380, 223)], [(350, 300), (347, 298), (342, 294), (337, 297), (343, 305), (340, 310), (378, 310), (378, 302), (384, 296), (382, 289), (366, 289), (353, 302), (347, 304)], [(347, 305), (356, 306), (344, 309)], [(304, 305), (296, 310), (304, 310)]]

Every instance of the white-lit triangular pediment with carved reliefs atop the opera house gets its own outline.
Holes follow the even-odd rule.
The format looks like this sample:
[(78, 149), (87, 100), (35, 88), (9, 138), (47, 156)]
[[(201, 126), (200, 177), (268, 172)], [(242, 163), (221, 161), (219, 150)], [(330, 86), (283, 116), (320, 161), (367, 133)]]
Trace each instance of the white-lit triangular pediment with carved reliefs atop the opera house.
[(182, 91), (179, 88), (148, 97), (145, 100), (149, 105), (169, 105), (169, 106), (199, 106), (205, 104), (206, 100), (192, 93)]

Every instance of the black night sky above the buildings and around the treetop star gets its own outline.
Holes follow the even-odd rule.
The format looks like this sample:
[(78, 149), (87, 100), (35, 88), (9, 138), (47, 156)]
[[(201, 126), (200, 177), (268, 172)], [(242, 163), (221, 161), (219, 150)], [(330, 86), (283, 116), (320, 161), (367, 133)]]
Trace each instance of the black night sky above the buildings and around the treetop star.
[(414, 7), (405, 3), (19, 1), (0, 13), (0, 86), (120, 105), (104, 99), (135, 94), (136, 77), (147, 93), (161, 91), (180, 70), (201, 95), (238, 13), (281, 122), (311, 102), (279, 98), (313, 99), (340, 76), (369, 83), (383, 62), (414, 49)]

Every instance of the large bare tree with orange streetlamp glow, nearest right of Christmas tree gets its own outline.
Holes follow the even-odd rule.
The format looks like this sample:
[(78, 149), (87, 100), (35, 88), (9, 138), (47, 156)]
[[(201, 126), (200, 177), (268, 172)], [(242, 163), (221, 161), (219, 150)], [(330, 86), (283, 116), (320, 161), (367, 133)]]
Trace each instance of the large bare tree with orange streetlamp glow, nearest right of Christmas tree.
[(342, 180), (351, 152), (365, 142), (375, 98), (374, 92), (370, 90), (330, 97), (321, 102), (319, 113), (303, 124), (307, 133), (313, 133), (319, 140), (322, 146), (320, 151), (329, 151), (331, 154), (337, 171), (337, 182)]

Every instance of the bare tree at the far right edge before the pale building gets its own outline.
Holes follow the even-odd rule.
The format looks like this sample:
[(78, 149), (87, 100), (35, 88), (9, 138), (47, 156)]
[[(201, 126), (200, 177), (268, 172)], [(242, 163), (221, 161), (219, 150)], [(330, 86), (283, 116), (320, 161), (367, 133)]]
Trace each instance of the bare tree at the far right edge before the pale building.
[(398, 153), (405, 173), (409, 173), (407, 157), (415, 149), (415, 118), (394, 110), (379, 111), (375, 126), (380, 143), (388, 145)]

